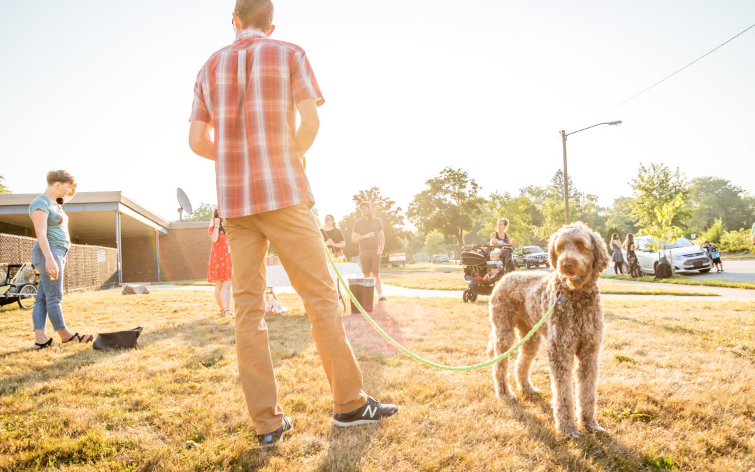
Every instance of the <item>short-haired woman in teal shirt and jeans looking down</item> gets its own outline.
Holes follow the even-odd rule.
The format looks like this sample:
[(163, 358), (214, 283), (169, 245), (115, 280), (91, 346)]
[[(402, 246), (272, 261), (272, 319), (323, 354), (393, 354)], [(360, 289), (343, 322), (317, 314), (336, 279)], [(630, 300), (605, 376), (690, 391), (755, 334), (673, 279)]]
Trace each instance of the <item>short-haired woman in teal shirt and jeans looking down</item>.
[(75, 195), (76, 183), (66, 171), (48, 172), (47, 181), (47, 190), (29, 205), (29, 216), (37, 234), (37, 242), (32, 249), (32, 264), (39, 270), (39, 289), (32, 310), (37, 349), (54, 345), (52, 338), (47, 336), (48, 318), (64, 343), (89, 342), (93, 338), (92, 335), (70, 332), (60, 309), (60, 302), (63, 301), (63, 268), (71, 247), (68, 216), (63, 211), (63, 203)]

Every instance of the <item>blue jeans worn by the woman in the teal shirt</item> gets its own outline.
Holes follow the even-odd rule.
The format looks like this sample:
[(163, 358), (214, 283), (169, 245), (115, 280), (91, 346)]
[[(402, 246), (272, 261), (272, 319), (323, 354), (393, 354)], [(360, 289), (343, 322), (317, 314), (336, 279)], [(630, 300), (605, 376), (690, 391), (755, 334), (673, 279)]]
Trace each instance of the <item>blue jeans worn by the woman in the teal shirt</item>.
[(63, 267), (66, 267), (68, 249), (51, 244), (50, 251), (52, 251), (57, 263), (58, 271), (55, 280), (50, 279), (45, 269), (45, 255), (42, 254), (42, 248), (39, 248), (39, 242), (32, 249), (32, 264), (36, 270), (39, 270), (39, 288), (37, 288), (37, 299), (34, 302), (34, 310), (32, 310), (32, 322), (35, 331), (45, 329), (48, 318), (50, 318), (52, 328), (56, 332), (66, 329), (60, 302), (63, 301)]

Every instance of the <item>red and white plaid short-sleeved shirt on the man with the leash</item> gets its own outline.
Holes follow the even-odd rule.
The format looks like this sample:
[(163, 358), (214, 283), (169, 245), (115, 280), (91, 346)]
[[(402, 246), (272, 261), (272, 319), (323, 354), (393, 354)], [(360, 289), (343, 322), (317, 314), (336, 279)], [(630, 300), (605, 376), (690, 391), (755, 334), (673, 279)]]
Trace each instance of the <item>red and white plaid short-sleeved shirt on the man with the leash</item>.
[(304, 50), (254, 29), (202, 66), (190, 120), (214, 128), (222, 217), (314, 202), (296, 143), (296, 103), (307, 98), (325, 103)]

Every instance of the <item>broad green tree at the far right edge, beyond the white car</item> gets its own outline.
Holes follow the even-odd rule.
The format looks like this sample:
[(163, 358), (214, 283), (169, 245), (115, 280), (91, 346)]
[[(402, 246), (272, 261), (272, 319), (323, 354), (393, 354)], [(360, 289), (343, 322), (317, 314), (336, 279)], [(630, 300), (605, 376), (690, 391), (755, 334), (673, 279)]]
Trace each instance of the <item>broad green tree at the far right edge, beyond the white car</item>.
[(713, 225), (716, 218), (727, 228), (749, 227), (747, 223), (755, 209), (741, 187), (719, 177), (692, 179), (688, 200), (692, 206), (689, 227), (696, 233)]

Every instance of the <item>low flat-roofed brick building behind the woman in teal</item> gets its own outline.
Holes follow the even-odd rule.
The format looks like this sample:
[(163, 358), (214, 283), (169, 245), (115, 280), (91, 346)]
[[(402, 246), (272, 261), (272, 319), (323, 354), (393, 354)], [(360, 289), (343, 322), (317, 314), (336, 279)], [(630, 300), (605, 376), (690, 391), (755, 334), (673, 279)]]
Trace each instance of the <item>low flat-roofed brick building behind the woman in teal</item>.
[[(35, 237), (29, 204), (38, 195), (0, 195), (0, 233)], [(119, 284), (207, 276), (208, 221), (166, 221), (121, 192), (77, 193), (65, 211), (72, 243), (116, 249)], [(30, 261), (30, 249), (20, 251), (29, 254), (16, 257)]]

